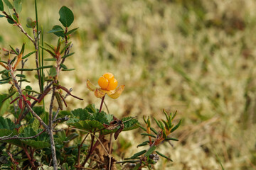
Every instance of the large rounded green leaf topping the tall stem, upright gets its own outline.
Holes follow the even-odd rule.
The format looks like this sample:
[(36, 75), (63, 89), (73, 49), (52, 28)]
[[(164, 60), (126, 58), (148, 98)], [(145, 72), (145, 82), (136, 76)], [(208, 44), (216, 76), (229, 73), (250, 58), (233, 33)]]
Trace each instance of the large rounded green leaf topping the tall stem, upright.
[(60, 14), (59, 21), (60, 21), (60, 23), (62, 23), (63, 26), (69, 27), (73, 23), (74, 14), (70, 10), (70, 8), (68, 8), (67, 6), (61, 7), (59, 14)]

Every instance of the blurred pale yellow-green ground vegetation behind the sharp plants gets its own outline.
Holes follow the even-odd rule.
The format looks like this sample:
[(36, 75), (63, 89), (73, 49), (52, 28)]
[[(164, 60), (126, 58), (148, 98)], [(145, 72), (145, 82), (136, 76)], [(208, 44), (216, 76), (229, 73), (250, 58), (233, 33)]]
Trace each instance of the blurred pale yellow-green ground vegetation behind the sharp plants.
[[(179, 142), (161, 146), (174, 162), (162, 160), (156, 169), (256, 169), (256, 1), (38, 1), (47, 42), (57, 40), (47, 31), (60, 25), (63, 5), (73, 10), (73, 28), (79, 29), (72, 37), (75, 55), (66, 62), (75, 71), (60, 79), (84, 98), (68, 98), (68, 109), (100, 106), (86, 79), (96, 84), (112, 72), (126, 87), (117, 100), (107, 98), (110, 113), (142, 122), (142, 115), (164, 118), (165, 108), (183, 119), (173, 134)], [(32, 0), (23, 1), (24, 27), (28, 16), (35, 19)], [(33, 49), (4, 18), (0, 30), (1, 47), (27, 42), (26, 53)], [(114, 157), (131, 156), (139, 139), (139, 130), (123, 132)]]

